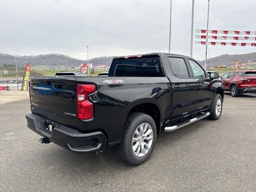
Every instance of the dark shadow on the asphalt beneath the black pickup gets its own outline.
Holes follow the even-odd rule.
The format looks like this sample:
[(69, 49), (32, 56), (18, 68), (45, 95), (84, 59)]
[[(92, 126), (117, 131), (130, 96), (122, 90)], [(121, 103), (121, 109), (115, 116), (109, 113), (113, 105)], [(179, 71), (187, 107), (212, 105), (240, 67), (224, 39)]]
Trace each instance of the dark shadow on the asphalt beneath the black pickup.
[[(120, 159), (119, 146), (113, 146), (103, 151), (102, 154), (96, 155), (96, 152), (90, 152), (86, 154), (73, 153), (65, 150), (55, 144), (49, 144), (48, 150), (44, 150), (41, 156), (48, 156), (48, 158), (41, 158), (41, 164), (54, 167), (54, 171), (62, 172), (65, 170), (66, 174), (100, 174), (108, 173), (116, 176), (118, 172), (126, 172), (133, 169), (143, 169), (149, 166), (149, 164), (155, 164), (159, 161), (159, 154), (166, 154), (166, 151), (171, 152), (176, 150), (181, 140), (186, 140), (194, 135), (194, 132), (201, 132), (208, 120), (201, 120), (193, 125), (186, 126), (180, 130), (174, 132), (164, 132), (161, 130), (161, 134), (158, 135), (154, 152), (150, 159), (140, 166), (130, 166), (125, 164)], [(200, 133), (198, 133), (200, 134)], [(38, 151), (39, 152), (39, 151)], [(49, 159), (50, 158), (50, 159)], [(51, 165), (48, 162), (51, 162)], [(166, 158), (166, 164), (168, 164), (168, 158)]]

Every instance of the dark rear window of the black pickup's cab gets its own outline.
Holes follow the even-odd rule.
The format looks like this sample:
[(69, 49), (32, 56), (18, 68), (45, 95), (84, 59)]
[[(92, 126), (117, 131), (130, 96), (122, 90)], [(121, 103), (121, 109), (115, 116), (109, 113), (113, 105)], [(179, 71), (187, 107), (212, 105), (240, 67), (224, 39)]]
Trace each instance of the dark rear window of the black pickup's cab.
[(142, 58), (113, 60), (109, 76), (164, 77), (164, 71), (159, 56), (142, 56)]

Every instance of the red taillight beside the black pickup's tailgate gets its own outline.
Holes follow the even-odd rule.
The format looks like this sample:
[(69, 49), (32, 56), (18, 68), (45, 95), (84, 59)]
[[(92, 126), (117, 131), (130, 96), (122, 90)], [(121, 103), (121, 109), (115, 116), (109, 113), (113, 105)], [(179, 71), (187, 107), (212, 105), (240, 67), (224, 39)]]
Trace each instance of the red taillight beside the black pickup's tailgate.
[(95, 91), (96, 87), (92, 84), (78, 84), (76, 86), (78, 119), (86, 120), (93, 118), (93, 104), (88, 101), (88, 95)]

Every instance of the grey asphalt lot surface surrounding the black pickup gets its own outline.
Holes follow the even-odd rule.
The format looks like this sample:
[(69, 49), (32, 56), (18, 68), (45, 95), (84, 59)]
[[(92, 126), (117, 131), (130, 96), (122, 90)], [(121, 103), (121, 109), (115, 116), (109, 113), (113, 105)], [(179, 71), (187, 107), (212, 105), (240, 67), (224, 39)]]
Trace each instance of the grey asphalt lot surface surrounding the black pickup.
[(117, 147), (96, 155), (40, 144), (29, 112), (29, 99), (0, 104), (0, 191), (256, 191), (256, 94), (227, 93), (220, 120), (162, 131), (140, 166), (121, 162)]

